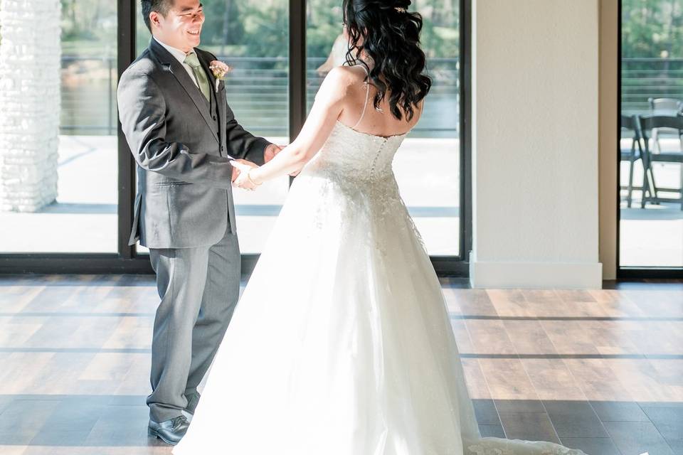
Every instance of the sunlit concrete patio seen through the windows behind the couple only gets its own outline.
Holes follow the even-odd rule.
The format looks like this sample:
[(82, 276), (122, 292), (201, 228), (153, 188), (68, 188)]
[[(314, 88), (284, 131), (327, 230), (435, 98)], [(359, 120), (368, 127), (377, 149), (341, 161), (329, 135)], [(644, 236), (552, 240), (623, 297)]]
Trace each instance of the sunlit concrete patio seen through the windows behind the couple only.
[[(282, 144), (287, 139), (268, 138)], [(0, 213), (0, 252), (95, 253), (117, 250), (117, 147), (114, 136), (60, 136), (58, 198), (38, 213)], [(406, 139), (395, 169), (430, 254), (457, 255), (459, 163), (456, 139)], [(432, 173), (414, 169), (437, 164)], [(260, 252), (287, 196), (287, 178), (259, 191), (235, 191), (240, 245)], [(141, 248), (144, 251), (144, 248)]]

